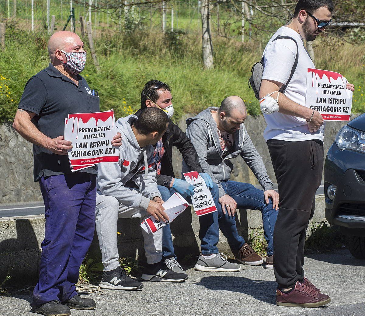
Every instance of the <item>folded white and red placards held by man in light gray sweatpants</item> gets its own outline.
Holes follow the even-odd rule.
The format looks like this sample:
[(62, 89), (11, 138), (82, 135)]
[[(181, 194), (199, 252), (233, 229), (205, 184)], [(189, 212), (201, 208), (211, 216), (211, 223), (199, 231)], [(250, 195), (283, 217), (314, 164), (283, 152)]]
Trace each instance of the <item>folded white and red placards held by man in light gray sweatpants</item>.
[(162, 227), (170, 224), (170, 222), (187, 209), (189, 203), (180, 194), (175, 192), (162, 206), (165, 208), (165, 213), (169, 217), (169, 220), (167, 222), (161, 222), (153, 216), (146, 218), (141, 223), (141, 227), (146, 233), (155, 233)]

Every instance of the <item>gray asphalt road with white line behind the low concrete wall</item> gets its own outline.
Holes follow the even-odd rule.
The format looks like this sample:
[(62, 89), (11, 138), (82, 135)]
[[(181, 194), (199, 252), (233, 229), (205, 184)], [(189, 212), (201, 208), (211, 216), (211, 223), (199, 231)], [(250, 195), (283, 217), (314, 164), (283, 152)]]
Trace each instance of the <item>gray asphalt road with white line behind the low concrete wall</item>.
[[(260, 186), (257, 187), (261, 189)], [(274, 186), (274, 189), (277, 190), (277, 186)], [(321, 185), (318, 188), (316, 194), (323, 194), (323, 185)], [(44, 214), (44, 212), (45, 212), (45, 207), (43, 202), (0, 205), (0, 217), (38, 215), (38, 214)]]

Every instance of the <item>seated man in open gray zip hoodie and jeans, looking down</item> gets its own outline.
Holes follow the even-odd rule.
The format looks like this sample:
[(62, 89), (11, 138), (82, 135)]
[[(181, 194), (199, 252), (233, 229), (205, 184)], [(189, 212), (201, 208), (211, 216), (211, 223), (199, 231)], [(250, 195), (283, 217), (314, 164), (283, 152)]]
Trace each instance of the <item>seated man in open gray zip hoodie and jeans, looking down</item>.
[[(264, 235), (268, 243), (265, 267), (273, 269), (273, 230), (279, 196), (273, 190), (264, 162), (243, 125), (246, 117), (243, 100), (238, 96), (230, 96), (222, 101), (220, 108), (209, 107), (196, 117), (187, 119), (186, 134), (195, 146), (201, 167), (218, 185), (220, 205), (214, 220), (218, 221), (236, 259), (249, 265), (263, 262), (243, 237), (238, 235), (234, 215), (236, 208), (258, 209), (262, 213)], [(233, 169), (230, 159), (238, 155), (250, 167), (264, 191), (249, 183), (230, 180)], [(187, 165), (183, 163), (183, 172), (187, 171)], [(219, 234), (210, 222), (207, 222), (207, 226), (211, 242), (216, 245)], [(207, 262), (207, 258), (203, 257), (197, 264), (204, 262)]]

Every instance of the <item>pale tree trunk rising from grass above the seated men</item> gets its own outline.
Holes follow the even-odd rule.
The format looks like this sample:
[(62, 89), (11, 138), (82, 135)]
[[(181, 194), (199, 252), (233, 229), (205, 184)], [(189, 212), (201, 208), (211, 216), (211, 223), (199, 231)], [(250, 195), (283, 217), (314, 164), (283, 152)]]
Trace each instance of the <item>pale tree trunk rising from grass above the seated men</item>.
[(203, 62), (204, 67), (207, 69), (214, 68), (213, 65), (213, 44), (212, 36), (210, 33), (210, 8), (209, 0), (201, 1), (201, 30), (202, 35), (202, 48), (203, 48)]

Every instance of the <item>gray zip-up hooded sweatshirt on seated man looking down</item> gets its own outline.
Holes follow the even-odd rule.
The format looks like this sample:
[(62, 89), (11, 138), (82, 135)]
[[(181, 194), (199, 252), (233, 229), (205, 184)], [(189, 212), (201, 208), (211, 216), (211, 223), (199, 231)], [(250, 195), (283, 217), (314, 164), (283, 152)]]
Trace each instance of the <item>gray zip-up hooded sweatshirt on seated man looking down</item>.
[[(238, 155), (245, 160), (264, 190), (271, 190), (273, 184), (267, 175), (264, 161), (247, 134), (245, 125), (241, 124), (241, 128), (233, 133), (232, 153), (222, 157), (217, 124), (211, 114), (211, 111), (218, 110), (218, 107), (209, 107), (196, 117), (188, 118), (186, 134), (198, 153), (201, 168), (218, 184), (219, 197), (226, 194), (219, 182), (230, 179), (233, 169), (230, 159)], [(190, 170), (183, 161), (183, 172), (188, 171)]]

